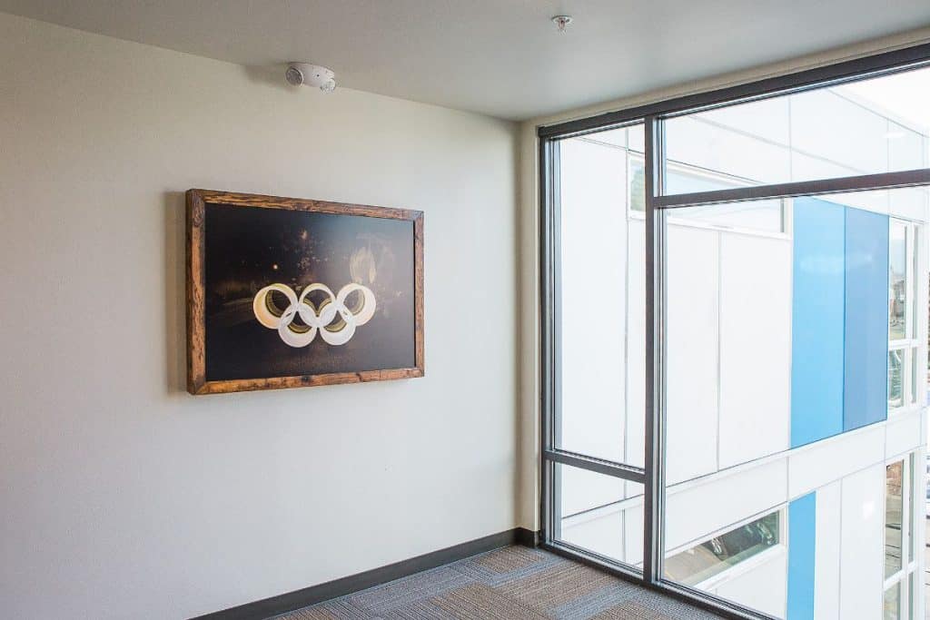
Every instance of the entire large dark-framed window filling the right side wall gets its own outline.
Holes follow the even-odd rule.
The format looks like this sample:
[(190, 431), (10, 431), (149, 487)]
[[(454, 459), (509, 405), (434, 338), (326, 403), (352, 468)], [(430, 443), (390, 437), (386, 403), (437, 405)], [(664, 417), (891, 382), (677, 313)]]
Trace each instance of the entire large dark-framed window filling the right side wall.
[(547, 546), (741, 617), (923, 614), (930, 68), (835, 72), (540, 128)]

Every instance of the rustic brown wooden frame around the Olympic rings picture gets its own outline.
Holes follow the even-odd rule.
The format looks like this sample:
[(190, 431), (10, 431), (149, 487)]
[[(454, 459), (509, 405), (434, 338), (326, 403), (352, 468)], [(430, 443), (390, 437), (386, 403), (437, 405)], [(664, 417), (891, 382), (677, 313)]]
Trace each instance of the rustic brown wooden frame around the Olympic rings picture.
[[(206, 326), (204, 297), (206, 204), (258, 206), (291, 211), (313, 211), (366, 218), (402, 219), (414, 225), (414, 338), (412, 368), (391, 368), (357, 373), (275, 376), (270, 378), (206, 380)], [(232, 191), (189, 190), (187, 192), (187, 390), (192, 394), (248, 391), (253, 389), (302, 388), (337, 383), (360, 383), (404, 379), (424, 375), (423, 345), (423, 212), (365, 204), (328, 203), (320, 200), (281, 198)]]

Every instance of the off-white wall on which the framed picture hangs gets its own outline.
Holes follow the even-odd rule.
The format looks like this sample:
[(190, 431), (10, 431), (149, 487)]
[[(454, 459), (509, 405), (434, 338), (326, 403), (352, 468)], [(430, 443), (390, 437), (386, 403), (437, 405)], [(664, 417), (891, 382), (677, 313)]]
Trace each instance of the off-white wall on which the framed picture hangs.
[[(0, 15), (0, 601), (181, 618), (514, 527), (515, 125)], [(416, 208), (426, 376), (183, 391), (183, 191)]]

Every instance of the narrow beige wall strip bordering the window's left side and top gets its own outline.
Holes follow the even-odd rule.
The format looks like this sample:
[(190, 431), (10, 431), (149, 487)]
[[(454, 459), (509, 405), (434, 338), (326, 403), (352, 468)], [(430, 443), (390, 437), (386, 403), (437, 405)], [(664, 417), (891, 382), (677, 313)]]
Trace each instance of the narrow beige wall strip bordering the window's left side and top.
[(519, 303), (521, 364), (519, 402), (519, 486), (518, 522), (522, 527), (538, 530), (539, 523), (539, 424), (540, 424), (540, 355), (539, 355), (539, 177), (537, 129), (595, 114), (655, 103), (663, 99), (745, 84), (766, 77), (795, 73), (842, 60), (890, 51), (930, 41), (930, 28), (846, 46), (800, 59), (791, 59), (739, 73), (689, 82), (671, 88), (642, 93), (625, 99), (569, 110), (560, 114), (533, 118), (520, 126), (520, 205), (519, 205)]

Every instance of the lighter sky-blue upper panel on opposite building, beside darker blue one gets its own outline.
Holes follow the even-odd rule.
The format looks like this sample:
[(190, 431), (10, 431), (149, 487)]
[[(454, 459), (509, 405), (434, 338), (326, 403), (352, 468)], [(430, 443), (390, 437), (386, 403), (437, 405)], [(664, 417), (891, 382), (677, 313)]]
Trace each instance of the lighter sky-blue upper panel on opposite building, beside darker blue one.
[(794, 201), (791, 447), (843, 432), (844, 206)]

